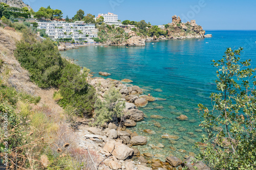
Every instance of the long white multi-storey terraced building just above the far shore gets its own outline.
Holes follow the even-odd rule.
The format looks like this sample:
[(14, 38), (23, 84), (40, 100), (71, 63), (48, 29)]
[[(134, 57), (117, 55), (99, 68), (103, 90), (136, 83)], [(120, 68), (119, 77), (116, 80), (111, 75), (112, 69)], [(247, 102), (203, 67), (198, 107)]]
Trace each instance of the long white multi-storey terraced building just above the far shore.
[(38, 29), (45, 29), (49, 38), (55, 40), (74, 39), (75, 41), (94, 42), (92, 38), (98, 36), (98, 30), (95, 29), (95, 24), (93, 23), (40, 20), (37, 23)]

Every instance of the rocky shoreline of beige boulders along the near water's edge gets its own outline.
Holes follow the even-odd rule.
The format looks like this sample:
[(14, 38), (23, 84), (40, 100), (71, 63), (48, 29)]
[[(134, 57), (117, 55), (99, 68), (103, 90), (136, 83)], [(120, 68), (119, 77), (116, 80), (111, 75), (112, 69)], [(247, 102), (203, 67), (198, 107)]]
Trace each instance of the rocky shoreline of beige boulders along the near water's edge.
[[(109, 76), (110, 74), (99, 72), (99, 75)], [(146, 136), (140, 136), (127, 128), (135, 127), (137, 122), (144, 119), (145, 114), (140, 111), (138, 107), (145, 107), (148, 102), (164, 99), (143, 95), (143, 89), (138, 86), (127, 84), (132, 82), (132, 80), (129, 79), (118, 81), (110, 78), (103, 79), (101, 77), (92, 77), (93, 75), (89, 74), (88, 82), (96, 88), (96, 92), (99, 94), (100, 99), (103, 99), (106, 91), (115, 87), (121, 93), (122, 100), (125, 101), (125, 109), (123, 111), (121, 124), (113, 122), (104, 124), (101, 128), (90, 127), (88, 125), (80, 126), (79, 133), (86, 140), (78, 143), (80, 148), (85, 147), (84, 142), (92, 143), (92, 148), (94, 148), (102, 158), (106, 158), (103, 163), (106, 166), (109, 166), (110, 169), (162, 170), (182, 169), (183, 166), (188, 167), (188, 169), (194, 169), (194, 166), (198, 167), (198, 169), (209, 169), (203, 162), (199, 161), (192, 163), (192, 159), (194, 160), (193, 156), (195, 155), (189, 154), (185, 160), (170, 155), (166, 157), (165, 161), (161, 161), (159, 157), (162, 157), (162, 155), (141, 153), (135, 146), (147, 144), (148, 138)], [(187, 117), (184, 116), (185, 115), (180, 116), (179, 118), (186, 119)], [(160, 115), (154, 115), (154, 117), (159, 118)], [(154, 131), (151, 131), (150, 129), (145, 129), (144, 132), (148, 134), (154, 133)], [(162, 137), (169, 139), (169, 137), (172, 138), (173, 136), (163, 134)], [(159, 143), (157, 145), (152, 145), (151, 147), (161, 150), (165, 146)], [(101, 169), (105, 168), (101, 167)]]

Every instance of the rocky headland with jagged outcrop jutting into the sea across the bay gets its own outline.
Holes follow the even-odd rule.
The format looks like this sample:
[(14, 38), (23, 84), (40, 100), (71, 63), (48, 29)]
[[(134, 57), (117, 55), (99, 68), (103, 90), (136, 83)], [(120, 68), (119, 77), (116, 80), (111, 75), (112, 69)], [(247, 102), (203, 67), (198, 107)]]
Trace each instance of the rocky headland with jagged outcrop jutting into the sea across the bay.
[[(152, 29), (152, 26), (148, 26), (146, 31)], [(102, 31), (103, 30), (103, 31)], [(136, 29), (124, 28), (123, 31), (112, 31), (108, 28), (99, 29), (99, 37), (107, 45), (120, 45), (120, 46), (145, 46), (145, 42), (167, 40), (167, 39), (185, 39), (185, 38), (209, 38), (212, 35), (205, 35), (205, 31), (199, 25), (196, 20), (182, 22), (180, 17), (174, 15), (172, 22), (161, 28), (161, 32), (165, 34), (149, 36), (141, 34)], [(103, 33), (101, 33), (101, 31)]]

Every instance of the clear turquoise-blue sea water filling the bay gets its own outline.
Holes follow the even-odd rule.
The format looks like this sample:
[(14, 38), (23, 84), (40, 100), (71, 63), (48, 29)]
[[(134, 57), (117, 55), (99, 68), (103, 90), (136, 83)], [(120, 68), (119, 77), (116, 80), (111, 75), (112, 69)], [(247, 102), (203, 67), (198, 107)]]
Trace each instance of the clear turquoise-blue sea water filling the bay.
[[(110, 72), (112, 75), (109, 78), (131, 79), (134, 81), (133, 85), (146, 89), (145, 94), (166, 99), (141, 108), (148, 118), (131, 130), (140, 135), (147, 135), (142, 132), (144, 129), (154, 130), (156, 134), (147, 135), (150, 138), (148, 144), (165, 145), (163, 150), (152, 150), (148, 144), (138, 147), (142, 153), (176, 155), (182, 158), (189, 152), (198, 152), (193, 146), (195, 141), (200, 141), (203, 132), (195, 131), (200, 129), (197, 105), (202, 103), (210, 107), (210, 93), (216, 90), (216, 69), (210, 65), (211, 60), (220, 59), (226, 47), (237, 49), (242, 46), (244, 52), (241, 58), (252, 59), (252, 67), (256, 67), (256, 31), (206, 31), (206, 34), (212, 34), (213, 37), (164, 40), (154, 44), (148, 42), (144, 47), (86, 46), (61, 54), (78, 60), (77, 64), (88, 67), (93, 72)], [(99, 77), (97, 74), (95, 76)], [(161, 89), (162, 92), (154, 89)], [(162, 106), (163, 109), (155, 109), (157, 106)], [(188, 116), (190, 121), (177, 120), (176, 117), (180, 114)], [(164, 118), (153, 119), (150, 118), (151, 115), (161, 115)], [(179, 140), (162, 139), (161, 135), (164, 133), (177, 135)], [(180, 153), (169, 147), (187, 152)]]

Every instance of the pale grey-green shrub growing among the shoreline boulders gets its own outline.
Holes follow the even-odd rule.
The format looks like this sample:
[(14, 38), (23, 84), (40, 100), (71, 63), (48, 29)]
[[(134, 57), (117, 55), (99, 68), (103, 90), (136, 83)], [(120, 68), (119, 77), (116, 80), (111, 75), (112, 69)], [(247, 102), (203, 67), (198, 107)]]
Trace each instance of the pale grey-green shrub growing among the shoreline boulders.
[(121, 101), (121, 94), (112, 87), (105, 92), (103, 100), (97, 99), (95, 103), (96, 125), (103, 125), (105, 122), (115, 122), (121, 118), (125, 102)]

